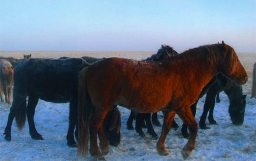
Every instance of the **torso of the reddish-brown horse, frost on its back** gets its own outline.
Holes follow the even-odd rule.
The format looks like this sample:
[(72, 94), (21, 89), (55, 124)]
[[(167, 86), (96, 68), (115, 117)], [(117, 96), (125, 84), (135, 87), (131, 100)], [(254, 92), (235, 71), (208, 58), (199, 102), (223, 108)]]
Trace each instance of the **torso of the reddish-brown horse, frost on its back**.
[(106, 103), (156, 112), (169, 104), (173, 97), (170, 91), (176, 90), (165, 68), (161, 62), (105, 59), (89, 66), (88, 93), (96, 106)]

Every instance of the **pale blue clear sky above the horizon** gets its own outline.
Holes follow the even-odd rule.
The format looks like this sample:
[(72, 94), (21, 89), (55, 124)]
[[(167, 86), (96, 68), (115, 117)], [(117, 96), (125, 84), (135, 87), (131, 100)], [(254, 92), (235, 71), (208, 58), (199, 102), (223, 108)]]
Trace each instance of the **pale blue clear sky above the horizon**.
[(256, 1), (0, 1), (0, 51), (185, 51), (221, 42), (256, 53)]

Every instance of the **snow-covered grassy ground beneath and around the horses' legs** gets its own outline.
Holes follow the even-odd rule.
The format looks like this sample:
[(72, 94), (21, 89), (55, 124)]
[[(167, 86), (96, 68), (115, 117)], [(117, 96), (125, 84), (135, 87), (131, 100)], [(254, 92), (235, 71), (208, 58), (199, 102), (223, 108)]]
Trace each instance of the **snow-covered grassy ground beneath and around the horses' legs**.
[[(245, 60), (255, 61), (255, 55), (251, 56)], [(249, 79), (248, 83), (243, 86), (244, 93), (247, 94), (243, 125), (232, 125), (228, 114), (228, 98), (221, 92), (221, 103), (216, 103), (214, 110), (218, 125), (209, 125), (206, 120), (206, 125), (211, 129), (198, 130), (196, 147), (188, 160), (256, 160), (256, 99), (251, 98), (251, 78)], [(197, 121), (201, 116), (204, 100), (205, 97), (199, 100)], [(1, 133), (4, 133), (9, 108), (9, 105), (0, 103)], [(122, 112), (123, 125), (121, 143), (117, 147), (110, 146), (110, 153), (105, 156), (106, 160), (183, 160), (180, 152), (187, 139), (183, 139), (180, 128), (177, 131), (170, 130), (166, 139), (165, 145), (169, 156), (159, 156), (156, 152), (156, 140), (152, 140), (148, 134), (143, 138), (135, 130), (127, 130), (126, 121), (130, 111), (120, 106), (119, 109)], [(159, 115), (162, 121), (162, 114), (159, 113)], [(4, 136), (0, 137), (0, 160), (82, 160), (77, 157), (76, 148), (66, 145), (68, 103), (57, 104), (40, 100), (34, 119), (36, 128), (44, 140), (31, 139), (28, 123), (25, 129), (19, 132), (14, 122), (12, 141), (6, 142)], [(175, 120), (180, 126), (182, 125), (178, 116)], [(154, 128), (157, 135), (160, 135), (161, 128)], [(146, 129), (144, 131), (146, 133)], [(87, 155), (86, 159), (93, 160), (90, 155)]]

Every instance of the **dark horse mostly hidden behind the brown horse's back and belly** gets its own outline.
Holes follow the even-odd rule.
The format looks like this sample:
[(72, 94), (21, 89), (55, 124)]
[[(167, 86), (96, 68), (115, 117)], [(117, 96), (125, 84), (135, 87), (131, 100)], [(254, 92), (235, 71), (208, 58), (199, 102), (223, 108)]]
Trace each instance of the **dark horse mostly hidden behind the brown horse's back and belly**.
[[(160, 61), (166, 58), (170, 58), (170, 56), (173, 56), (173, 55), (178, 55), (178, 52), (173, 50), (173, 48), (171, 48), (168, 45), (161, 45), (161, 48), (157, 51), (156, 54), (153, 54), (149, 58), (146, 58), (142, 61)], [(134, 129), (132, 124), (133, 124), (133, 119), (136, 118), (136, 125), (135, 125), (136, 132), (139, 133), (140, 136), (144, 137), (145, 133), (143, 133), (142, 127), (143, 128), (145, 127), (147, 128), (147, 133), (149, 133), (153, 139), (157, 139), (158, 136), (152, 126), (152, 123), (156, 126), (160, 126), (160, 122), (157, 119), (157, 113), (153, 113), (152, 123), (150, 121), (150, 117), (151, 117), (151, 113), (136, 113), (133, 110), (131, 110), (130, 116), (126, 122), (127, 129), (129, 130)], [(146, 122), (146, 125), (145, 125), (145, 122)], [(173, 123), (172, 128), (177, 129), (178, 128), (177, 126), (178, 126), (177, 124)]]

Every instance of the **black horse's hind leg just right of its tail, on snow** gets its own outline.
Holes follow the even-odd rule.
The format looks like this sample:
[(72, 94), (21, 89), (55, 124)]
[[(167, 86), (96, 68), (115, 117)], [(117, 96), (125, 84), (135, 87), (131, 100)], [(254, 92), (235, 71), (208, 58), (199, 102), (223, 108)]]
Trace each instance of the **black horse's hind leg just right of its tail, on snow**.
[(42, 136), (35, 129), (34, 115), (35, 115), (35, 107), (38, 103), (38, 97), (34, 95), (28, 96), (28, 107), (27, 107), (27, 117), (28, 117), (28, 126), (29, 126), (29, 134), (32, 139), (35, 140), (44, 140)]

